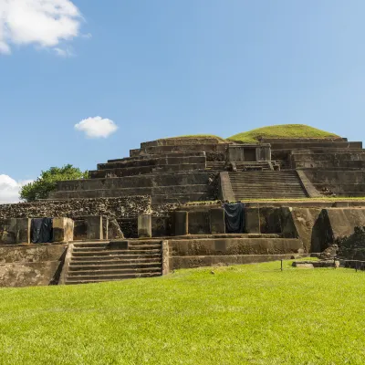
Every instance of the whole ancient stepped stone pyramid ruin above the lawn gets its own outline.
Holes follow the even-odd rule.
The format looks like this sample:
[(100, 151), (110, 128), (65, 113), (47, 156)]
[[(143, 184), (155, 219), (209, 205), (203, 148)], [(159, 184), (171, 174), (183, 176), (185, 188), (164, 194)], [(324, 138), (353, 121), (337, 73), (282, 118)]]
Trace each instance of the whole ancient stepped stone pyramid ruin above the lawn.
[[(89, 179), (57, 183), (47, 200), (0, 205), (0, 286), (322, 252), (365, 225), (363, 162), (362, 142), (337, 137), (143, 142), (130, 157), (99, 163)], [(224, 202), (244, 202), (242, 229), (227, 228)], [(52, 218), (51, 242), (32, 243), (36, 218)]]

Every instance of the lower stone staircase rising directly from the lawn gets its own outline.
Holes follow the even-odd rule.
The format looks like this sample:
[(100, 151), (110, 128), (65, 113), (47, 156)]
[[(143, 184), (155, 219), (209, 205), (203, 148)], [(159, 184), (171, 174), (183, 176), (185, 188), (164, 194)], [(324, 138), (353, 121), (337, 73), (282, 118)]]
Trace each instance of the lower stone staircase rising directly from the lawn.
[(65, 284), (86, 284), (162, 276), (161, 241), (73, 244)]

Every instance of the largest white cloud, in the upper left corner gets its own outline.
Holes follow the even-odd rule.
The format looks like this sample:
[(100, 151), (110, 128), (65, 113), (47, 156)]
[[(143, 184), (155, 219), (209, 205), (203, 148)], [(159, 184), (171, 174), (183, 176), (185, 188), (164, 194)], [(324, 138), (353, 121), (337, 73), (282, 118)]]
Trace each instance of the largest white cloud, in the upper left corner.
[(79, 36), (81, 19), (70, 0), (0, 0), (0, 53), (12, 44), (57, 47)]

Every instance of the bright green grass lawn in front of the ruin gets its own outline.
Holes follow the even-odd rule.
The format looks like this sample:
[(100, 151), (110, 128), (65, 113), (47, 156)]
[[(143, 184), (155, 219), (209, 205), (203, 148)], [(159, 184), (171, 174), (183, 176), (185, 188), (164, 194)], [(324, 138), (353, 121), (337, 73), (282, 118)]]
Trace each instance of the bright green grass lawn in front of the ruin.
[(0, 364), (364, 364), (365, 273), (279, 266), (0, 289)]

